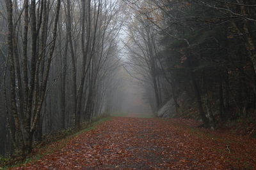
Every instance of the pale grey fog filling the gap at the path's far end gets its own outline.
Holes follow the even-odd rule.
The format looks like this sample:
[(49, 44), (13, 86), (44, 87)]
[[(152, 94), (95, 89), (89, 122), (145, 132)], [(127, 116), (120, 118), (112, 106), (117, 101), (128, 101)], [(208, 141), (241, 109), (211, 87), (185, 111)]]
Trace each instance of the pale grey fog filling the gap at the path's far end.
[(120, 67), (114, 80), (114, 89), (107, 102), (111, 106), (106, 106), (106, 112), (131, 117), (148, 117), (153, 114), (141, 81), (132, 78), (123, 67)]

